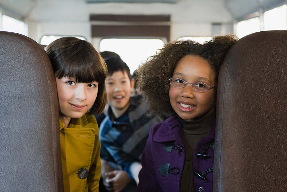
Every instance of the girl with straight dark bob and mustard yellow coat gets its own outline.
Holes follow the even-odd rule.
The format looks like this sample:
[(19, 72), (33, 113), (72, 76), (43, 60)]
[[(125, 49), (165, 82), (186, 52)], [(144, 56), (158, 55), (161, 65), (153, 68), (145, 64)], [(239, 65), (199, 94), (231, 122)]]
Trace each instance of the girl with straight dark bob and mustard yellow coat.
[(100, 141), (92, 114), (106, 106), (107, 66), (91, 43), (75, 37), (45, 49), (57, 84), (64, 191), (98, 191)]

